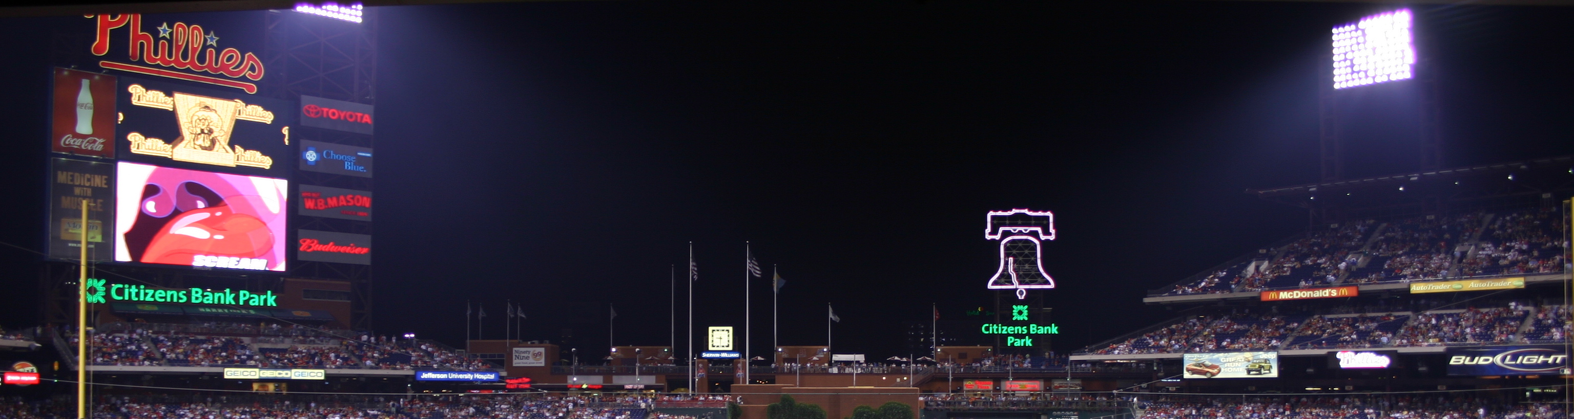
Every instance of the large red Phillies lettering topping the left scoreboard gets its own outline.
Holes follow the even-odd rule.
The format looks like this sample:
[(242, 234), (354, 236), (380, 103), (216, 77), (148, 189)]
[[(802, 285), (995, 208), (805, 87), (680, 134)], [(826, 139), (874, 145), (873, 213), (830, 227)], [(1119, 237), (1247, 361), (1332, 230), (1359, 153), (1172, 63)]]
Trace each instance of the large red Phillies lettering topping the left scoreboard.
[[(126, 58), (132, 63), (151, 64), (99, 61), (101, 67), (238, 88), (249, 94), (257, 93), (257, 85), (233, 78), (263, 80), (261, 58), (257, 58), (250, 52), (242, 53), (236, 49), (219, 49), (219, 36), (201, 25), (187, 25), (186, 22), (170, 25), (168, 22), (161, 22), (154, 28), (154, 33), (148, 33), (142, 30), (142, 14), (88, 14), (87, 17), (98, 22), (93, 55), (107, 55), (113, 41), (113, 30), (126, 28)], [(230, 78), (170, 69), (206, 72)]]

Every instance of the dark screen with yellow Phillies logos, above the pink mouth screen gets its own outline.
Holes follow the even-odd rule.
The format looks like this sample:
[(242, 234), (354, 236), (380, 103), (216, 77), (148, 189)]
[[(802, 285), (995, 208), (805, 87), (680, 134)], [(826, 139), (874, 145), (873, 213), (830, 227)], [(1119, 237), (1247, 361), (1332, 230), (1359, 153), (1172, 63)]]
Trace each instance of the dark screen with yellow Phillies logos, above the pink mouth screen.
[(286, 176), (293, 149), (285, 100), (121, 77), (121, 160)]

